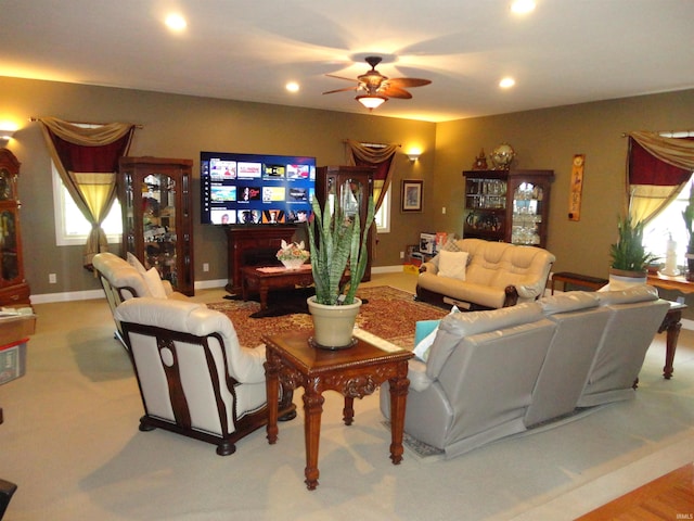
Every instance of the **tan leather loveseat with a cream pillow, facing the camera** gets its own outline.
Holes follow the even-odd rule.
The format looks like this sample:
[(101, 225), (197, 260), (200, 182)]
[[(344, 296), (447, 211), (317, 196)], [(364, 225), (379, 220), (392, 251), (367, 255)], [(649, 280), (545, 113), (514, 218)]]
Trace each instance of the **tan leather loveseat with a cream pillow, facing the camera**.
[(555, 257), (505, 242), (450, 241), (420, 268), (417, 298), (460, 308), (493, 309), (530, 302), (544, 292)]

